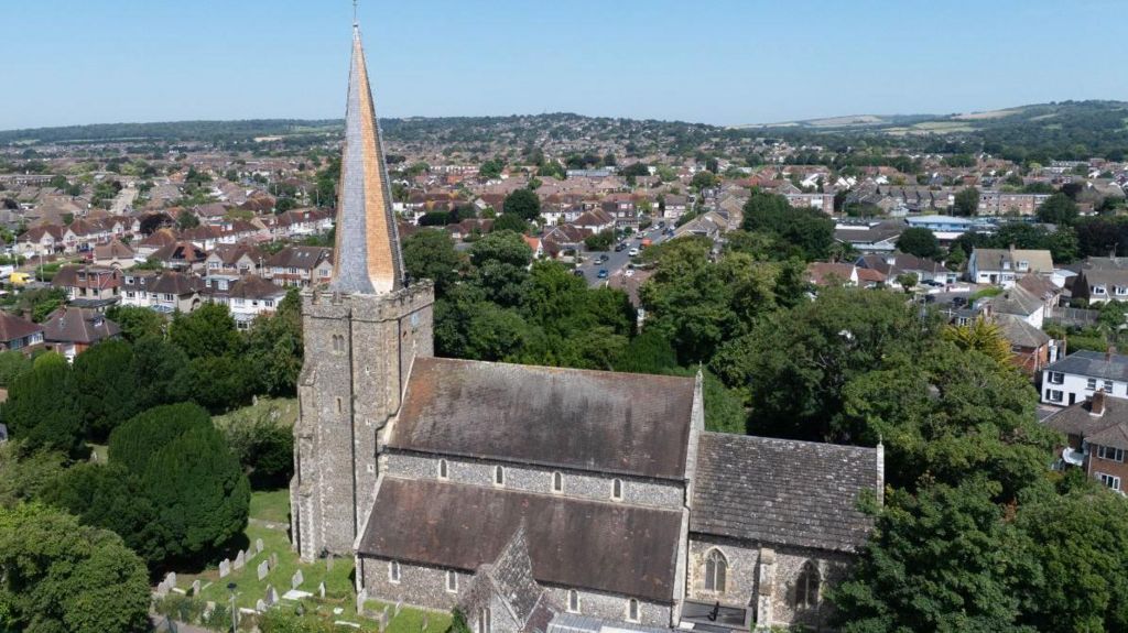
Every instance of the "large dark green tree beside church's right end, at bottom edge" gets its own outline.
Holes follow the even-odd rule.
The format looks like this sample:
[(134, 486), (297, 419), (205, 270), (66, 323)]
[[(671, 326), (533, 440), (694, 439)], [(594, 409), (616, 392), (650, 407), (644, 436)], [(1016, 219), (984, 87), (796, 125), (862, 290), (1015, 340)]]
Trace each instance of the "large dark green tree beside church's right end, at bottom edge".
[(1039, 570), (990, 484), (895, 491), (848, 578), (830, 589), (844, 633), (1024, 631), (1019, 578)]

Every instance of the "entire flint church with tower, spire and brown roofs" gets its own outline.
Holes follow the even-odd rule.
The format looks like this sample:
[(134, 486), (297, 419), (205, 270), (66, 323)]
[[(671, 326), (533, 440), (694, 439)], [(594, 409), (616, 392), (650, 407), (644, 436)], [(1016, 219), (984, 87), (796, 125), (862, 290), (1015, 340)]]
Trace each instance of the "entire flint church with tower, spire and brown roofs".
[(327, 288), (302, 296), (291, 536), (476, 633), (828, 627), (883, 451), (705, 430), (702, 378), (437, 358), (353, 28)]

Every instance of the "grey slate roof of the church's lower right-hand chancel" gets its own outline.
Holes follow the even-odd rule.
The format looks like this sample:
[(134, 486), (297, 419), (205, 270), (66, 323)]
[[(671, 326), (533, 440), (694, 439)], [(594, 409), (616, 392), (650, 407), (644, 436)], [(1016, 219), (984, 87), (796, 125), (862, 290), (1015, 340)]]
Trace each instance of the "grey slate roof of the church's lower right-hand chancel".
[(704, 433), (689, 529), (854, 552), (872, 527), (860, 496), (879, 479), (874, 448)]

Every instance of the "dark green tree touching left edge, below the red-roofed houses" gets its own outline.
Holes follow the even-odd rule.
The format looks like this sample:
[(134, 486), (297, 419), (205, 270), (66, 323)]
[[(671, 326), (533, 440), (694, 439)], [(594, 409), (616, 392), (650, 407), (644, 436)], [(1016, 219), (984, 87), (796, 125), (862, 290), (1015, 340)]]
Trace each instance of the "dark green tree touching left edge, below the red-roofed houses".
[(8, 400), (0, 404), (0, 420), (27, 449), (86, 455), (74, 377), (58, 354), (41, 356), (32, 371), (12, 381)]

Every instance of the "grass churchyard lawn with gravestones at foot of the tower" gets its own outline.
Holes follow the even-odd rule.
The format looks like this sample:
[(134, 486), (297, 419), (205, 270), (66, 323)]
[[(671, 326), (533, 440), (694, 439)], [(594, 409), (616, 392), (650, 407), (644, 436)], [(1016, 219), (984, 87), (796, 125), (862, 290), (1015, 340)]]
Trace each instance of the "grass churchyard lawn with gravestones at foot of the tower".
[[(356, 598), (353, 591), (353, 560), (335, 559), (333, 569), (329, 569), (327, 560), (318, 560), (312, 563), (300, 562), (298, 554), (290, 549), (290, 540), (285, 528), (289, 524), (289, 490), (254, 492), (250, 496), (250, 517), (254, 520), (247, 525), (246, 542), (254, 544), (256, 538), (262, 538), (263, 552), (247, 561), (243, 569), (232, 570), (223, 579), (219, 577), (218, 567), (211, 567), (197, 574), (178, 573), (177, 586), (188, 588), (192, 586), (192, 581), (199, 578), (202, 587), (201, 600), (230, 604), (227, 585), (235, 582), (237, 606), (254, 608), (255, 603), (266, 596), (268, 585), (274, 586), (281, 598), (290, 589), (293, 573), (300, 569), (303, 581), (299, 589), (312, 594), (311, 597), (300, 600), (306, 618), (354, 622), (360, 624), (363, 631), (379, 631), (376, 622), (356, 615)], [(272, 525), (263, 525), (259, 521)], [(266, 578), (258, 580), (258, 564), (267, 560), (272, 553), (277, 554), (279, 564), (266, 574)], [(317, 587), (320, 582), (325, 582), (325, 599), (318, 596)], [(280, 600), (279, 605), (275, 608), (290, 609), (292, 613), (297, 609), (298, 601)], [(342, 612), (334, 614), (336, 608), (342, 609)], [(378, 613), (384, 608), (384, 605), (376, 600), (369, 600), (367, 608)], [(426, 631), (430, 633), (442, 633), (450, 624), (449, 614), (404, 607), (399, 615), (391, 619), (385, 633), (421, 633), (424, 618), (428, 621)], [(345, 630), (342, 627), (342, 631)]]

